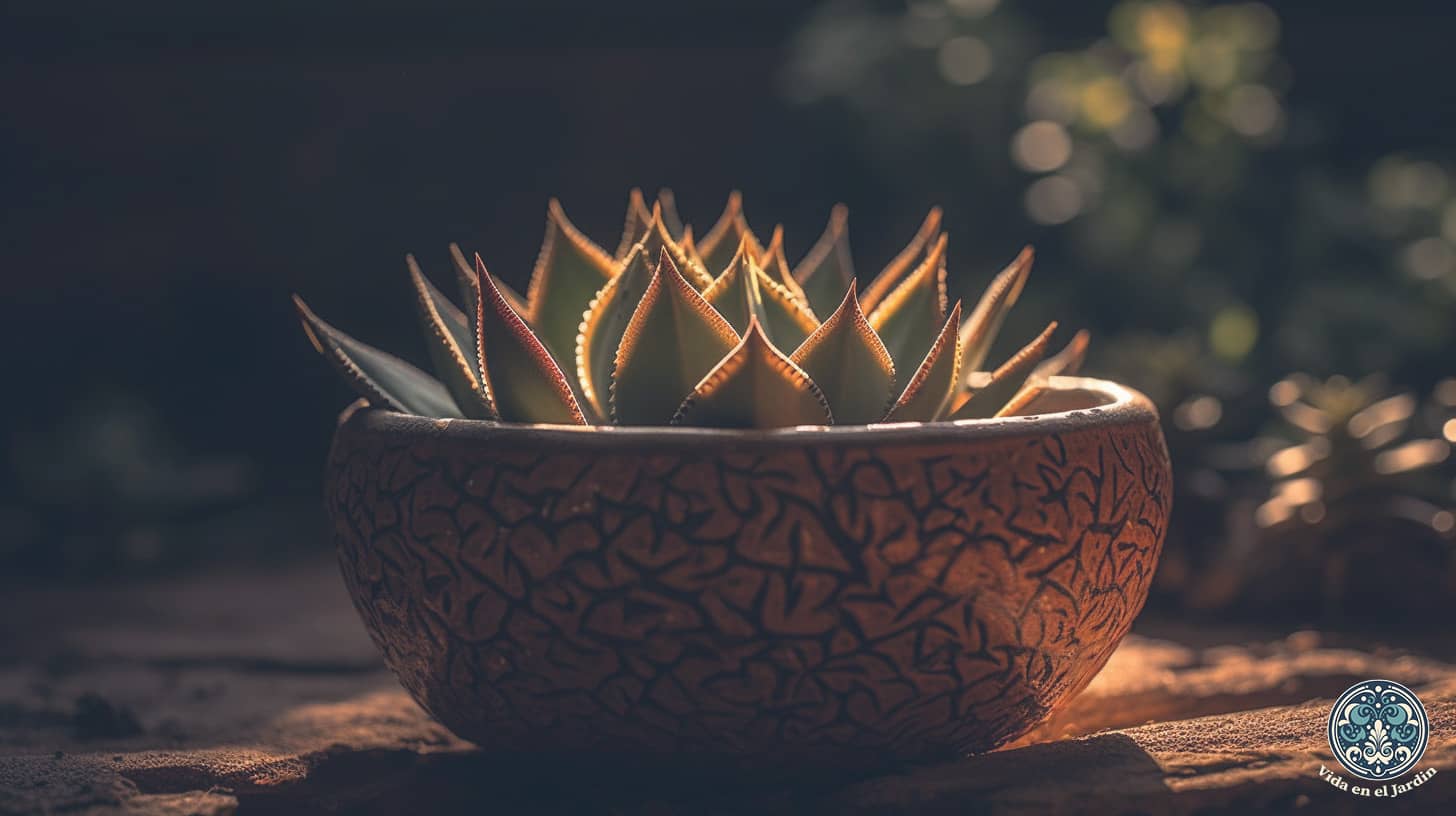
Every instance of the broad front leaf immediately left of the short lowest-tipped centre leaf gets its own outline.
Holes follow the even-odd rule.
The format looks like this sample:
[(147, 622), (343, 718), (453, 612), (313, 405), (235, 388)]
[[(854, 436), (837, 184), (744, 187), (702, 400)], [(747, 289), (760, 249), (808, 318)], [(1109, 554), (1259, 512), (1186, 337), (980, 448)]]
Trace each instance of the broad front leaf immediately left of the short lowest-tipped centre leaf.
[(738, 334), (664, 251), (632, 312), (612, 376), (612, 417), (625, 425), (667, 424)]

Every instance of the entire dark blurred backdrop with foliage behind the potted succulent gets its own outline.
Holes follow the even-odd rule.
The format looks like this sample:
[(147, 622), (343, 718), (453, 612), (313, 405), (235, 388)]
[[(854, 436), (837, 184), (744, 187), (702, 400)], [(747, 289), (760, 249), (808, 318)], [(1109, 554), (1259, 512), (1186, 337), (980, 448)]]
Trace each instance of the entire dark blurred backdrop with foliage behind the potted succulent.
[(1163, 412), (1156, 603), (1456, 606), (1444, 4), (488, 6), (6, 9), (0, 574), (319, 552), (347, 398), (288, 291), (419, 360), (405, 252), (520, 284), (550, 195), (607, 242), (737, 187), (794, 256), (846, 201), (865, 268), (942, 204), (962, 296), (1034, 243), (1003, 337), (1086, 326)]

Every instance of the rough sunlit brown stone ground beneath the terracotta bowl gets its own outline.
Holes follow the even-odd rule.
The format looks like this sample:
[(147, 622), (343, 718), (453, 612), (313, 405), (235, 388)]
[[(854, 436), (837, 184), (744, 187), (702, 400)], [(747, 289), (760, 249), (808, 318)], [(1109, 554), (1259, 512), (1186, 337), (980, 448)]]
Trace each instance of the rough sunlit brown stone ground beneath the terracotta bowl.
[[(381, 667), (332, 565), (0, 599), (0, 813), (1453, 812), (1456, 643), (1144, 621), (1016, 745), (874, 778), (593, 774), (488, 758)], [(1437, 775), (1395, 800), (1319, 780), (1335, 695), (1424, 699)], [(1348, 777), (1348, 774), (1345, 774)]]

